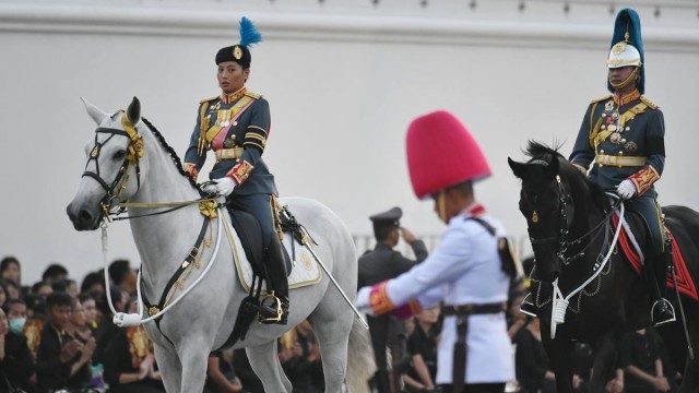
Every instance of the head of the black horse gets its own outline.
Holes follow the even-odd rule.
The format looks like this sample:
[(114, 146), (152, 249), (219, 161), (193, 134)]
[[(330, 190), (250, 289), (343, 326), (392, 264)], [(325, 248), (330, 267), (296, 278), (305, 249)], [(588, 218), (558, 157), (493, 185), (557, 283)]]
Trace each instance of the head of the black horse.
[(520, 212), (526, 218), (537, 278), (552, 283), (560, 275), (560, 257), (574, 219), (571, 181), (582, 174), (556, 150), (536, 142), (530, 142), (526, 153), (529, 162), (518, 163), (508, 157), (508, 163), (522, 180)]

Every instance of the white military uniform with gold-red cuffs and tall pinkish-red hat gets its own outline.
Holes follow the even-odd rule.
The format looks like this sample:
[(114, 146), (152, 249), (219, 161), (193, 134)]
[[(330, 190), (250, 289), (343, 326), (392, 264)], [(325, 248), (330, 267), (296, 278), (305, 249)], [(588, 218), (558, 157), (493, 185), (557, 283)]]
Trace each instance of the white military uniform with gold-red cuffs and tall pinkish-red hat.
[[(434, 159), (436, 150), (443, 159)], [(413, 189), (420, 199), (490, 175), (476, 141), (445, 111), (413, 121), (407, 156)], [(441, 209), (440, 217), (447, 217)], [(439, 246), (424, 262), (359, 290), (357, 306), (372, 314), (401, 314), (443, 302), (436, 382), (459, 393), (464, 383), (467, 389), (503, 392), (505, 383), (514, 378), (503, 311), (510, 277), (498, 252), (498, 238), (505, 230), (478, 203), (450, 217), (448, 225)]]

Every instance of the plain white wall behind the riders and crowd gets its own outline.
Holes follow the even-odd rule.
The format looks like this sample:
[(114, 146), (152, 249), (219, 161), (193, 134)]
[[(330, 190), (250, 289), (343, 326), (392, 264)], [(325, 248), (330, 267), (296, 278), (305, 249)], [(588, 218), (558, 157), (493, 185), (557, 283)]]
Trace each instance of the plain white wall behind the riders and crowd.
[[(357, 235), (367, 216), (393, 205), (418, 235), (442, 225), (416, 201), (404, 156), (410, 121), (434, 109), (460, 117), (494, 176), (476, 195), (510, 233), (525, 235), (519, 184), (507, 157), (529, 139), (570, 152), (591, 98), (606, 94), (614, 15), (608, 5), (529, 1), (0, 2), (3, 183), (0, 255), (23, 264), (24, 284), (52, 261), (79, 281), (102, 266), (98, 233), (73, 230), (73, 198), (92, 138), (80, 97), (106, 111), (139, 96), (143, 114), (182, 154), (198, 100), (217, 94), (216, 50), (237, 41), (240, 15), (265, 41), (253, 48), (251, 91), (271, 103), (264, 157), (282, 195), (317, 199)], [(639, 2), (647, 96), (665, 114), (664, 204), (697, 207), (696, 110), (699, 20), (674, 2), (654, 16)], [(239, 7), (247, 7), (241, 10)], [(128, 224), (109, 229), (109, 260), (140, 260)]]

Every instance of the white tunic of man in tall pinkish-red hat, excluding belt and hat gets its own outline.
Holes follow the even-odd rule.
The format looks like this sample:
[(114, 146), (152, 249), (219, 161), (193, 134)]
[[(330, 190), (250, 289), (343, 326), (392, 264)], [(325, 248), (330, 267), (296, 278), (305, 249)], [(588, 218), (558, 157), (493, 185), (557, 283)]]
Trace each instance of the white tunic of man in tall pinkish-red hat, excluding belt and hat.
[[(449, 221), (439, 247), (420, 264), (391, 279), (386, 287), (393, 305), (417, 298), (423, 308), (505, 302), (509, 277), (501, 270), (497, 237), (505, 235), (499, 221), (478, 216), (496, 229), (496, 236), (478, 222), (467, 219), (474, 205)], [(500, 383), (514, 378), (512, 346), (505, 312), (469, 317), (466, 383)], [(446, 317), (438, 348), (439, 384), (452, 383), (455, 317)]]

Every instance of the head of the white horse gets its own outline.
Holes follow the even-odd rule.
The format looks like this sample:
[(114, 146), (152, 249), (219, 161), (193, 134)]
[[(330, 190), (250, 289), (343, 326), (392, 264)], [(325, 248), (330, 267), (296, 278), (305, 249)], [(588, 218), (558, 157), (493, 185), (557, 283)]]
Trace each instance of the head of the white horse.
[(75, 229), (94, 230), (118, 202), (139, 191), (140, 171), (147, 163), (141, 159), (143, 138), (138, 131), (141, 104), (137, 97), (126, 111), (111, 116), (83, 102), (97, 129), (85, 146), (87, 164), (67, 212)]

